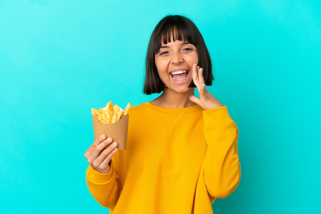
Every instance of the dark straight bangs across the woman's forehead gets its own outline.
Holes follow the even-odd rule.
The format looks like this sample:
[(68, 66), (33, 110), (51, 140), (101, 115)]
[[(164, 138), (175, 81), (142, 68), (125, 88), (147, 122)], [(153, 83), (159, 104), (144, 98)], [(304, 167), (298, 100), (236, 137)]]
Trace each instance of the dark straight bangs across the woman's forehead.
[(159, 48), (162, 46), (162, 44), (166, 45), (172, 40), (188, 41), (195, 47), (197, 46), (197, 40), (194, 39), (195, 35), (193, 35), (193, 32), (189, 26), (186, 26), (184, 22), (181, 22), (181, 20), (168, 20), (168, 22), (164, 23), (162, 28), (159, 29), (159, 33), (156, 35), (156, 45), (154, 46), (153, 50), (154, 53), (159, 51)]

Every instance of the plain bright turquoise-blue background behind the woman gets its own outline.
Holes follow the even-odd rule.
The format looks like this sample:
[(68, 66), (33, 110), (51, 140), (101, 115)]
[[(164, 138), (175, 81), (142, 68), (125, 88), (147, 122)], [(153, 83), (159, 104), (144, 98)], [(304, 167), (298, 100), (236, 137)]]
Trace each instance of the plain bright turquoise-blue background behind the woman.
[(90, 195), (91, 108), (142, 93), (168, 14), (202, 32), (237, 122), (242, 179), (214, 213), (321, 213), (319, 1), (1, 1), (0, 212), (108, 213)]

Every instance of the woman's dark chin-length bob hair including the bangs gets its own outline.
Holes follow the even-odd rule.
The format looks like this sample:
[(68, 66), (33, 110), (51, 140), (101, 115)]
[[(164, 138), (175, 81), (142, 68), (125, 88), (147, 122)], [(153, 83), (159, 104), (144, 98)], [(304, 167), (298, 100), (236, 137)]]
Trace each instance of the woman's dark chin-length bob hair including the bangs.
[[(145, 82), (143, 92), (145, 94), (160, 93), (164, 91), (165, 85), (158, 76), (155, 64), (155, 54), (160, 46), (173, 41), (188, 41), (194, 45), (198, 55), (198, 66), (203, 68), (203, 76), (206, 85), (212, 85), (214, 80), (212, 74), (211, 57), (205, 45), (202, 34), (196, 25), (188, 18), (180, 15), (165, 16), (156, 25), (148, 44), (146, 56)], [(192, 81), (189, 87), (195, 87)]]

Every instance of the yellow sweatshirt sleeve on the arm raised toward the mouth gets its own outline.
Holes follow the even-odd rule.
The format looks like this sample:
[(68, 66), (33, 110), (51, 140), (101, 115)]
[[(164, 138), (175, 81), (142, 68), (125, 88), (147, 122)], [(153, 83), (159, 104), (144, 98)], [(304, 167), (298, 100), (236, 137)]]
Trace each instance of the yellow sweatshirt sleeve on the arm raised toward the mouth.
[(200, 177), (204, 177), (211, 197), (225, 198), (233, 192), (240, 180), (238, 129), (228, 114), (227, 106), (203, 111), (203, 118), (208, 147)]

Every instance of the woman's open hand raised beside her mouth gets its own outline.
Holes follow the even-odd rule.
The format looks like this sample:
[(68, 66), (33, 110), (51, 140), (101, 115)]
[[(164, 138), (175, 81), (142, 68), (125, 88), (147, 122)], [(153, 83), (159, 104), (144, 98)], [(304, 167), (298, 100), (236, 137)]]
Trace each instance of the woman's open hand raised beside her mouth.
[(189, 99), (200, 105), (204, 110), (214, 109), (223, 106), (209, 91), (205, 88), (205, 81), (203, 77), (203, 68), (197, 66), (196, 63), (192, 67), (193, 82), (196, 85), (199, 98), (191, 95)]

